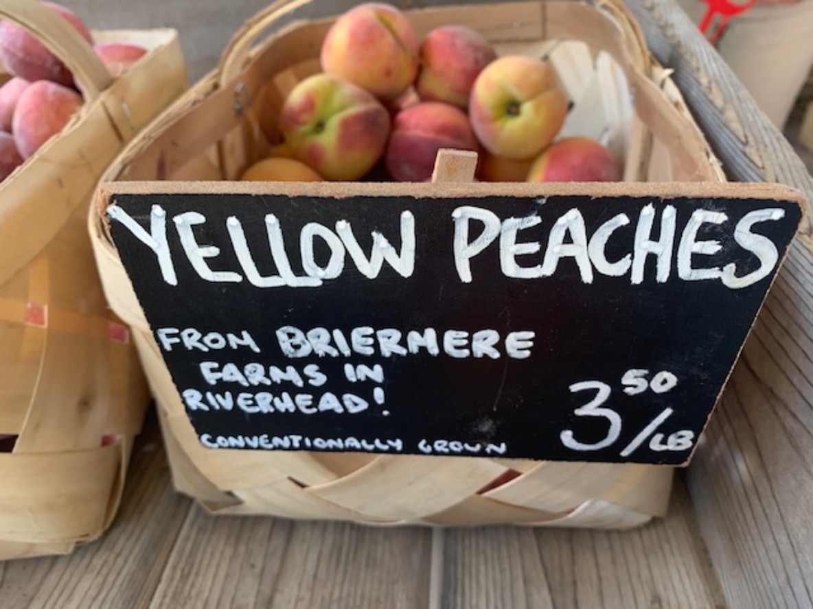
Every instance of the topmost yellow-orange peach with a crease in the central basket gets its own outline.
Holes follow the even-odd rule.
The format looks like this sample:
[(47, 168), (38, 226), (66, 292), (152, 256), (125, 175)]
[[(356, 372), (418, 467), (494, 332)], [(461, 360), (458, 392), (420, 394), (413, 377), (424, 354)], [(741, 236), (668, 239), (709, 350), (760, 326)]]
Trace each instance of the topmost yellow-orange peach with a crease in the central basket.
[(389, 102), (415, 80), (418, 41), (395, 6), (364, 2), (338, 17), (320, 50), (322, 70)]

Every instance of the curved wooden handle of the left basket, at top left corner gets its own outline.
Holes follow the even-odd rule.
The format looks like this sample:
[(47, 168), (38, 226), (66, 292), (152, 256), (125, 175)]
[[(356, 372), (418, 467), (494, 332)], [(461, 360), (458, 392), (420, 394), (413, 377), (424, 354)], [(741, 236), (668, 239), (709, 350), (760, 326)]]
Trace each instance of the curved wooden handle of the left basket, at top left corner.
[(0, 17), (24, 28), (56, 54), (81, 84), (86, 98), (96, 99), (113, 82), (88, 41), (67, 19), (41, 2), (2, 0)]

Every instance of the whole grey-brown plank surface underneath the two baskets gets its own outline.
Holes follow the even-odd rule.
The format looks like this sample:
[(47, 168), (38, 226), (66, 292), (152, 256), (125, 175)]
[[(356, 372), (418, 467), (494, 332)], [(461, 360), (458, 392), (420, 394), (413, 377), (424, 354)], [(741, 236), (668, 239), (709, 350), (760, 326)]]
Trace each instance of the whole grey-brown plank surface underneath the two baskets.
[(124, 503), (72, 555), (0, 564), (2, 607), (719, 607), (685, 482), (629, 531), (374, 528), (210, 516), (173, 492), (154, 422)]

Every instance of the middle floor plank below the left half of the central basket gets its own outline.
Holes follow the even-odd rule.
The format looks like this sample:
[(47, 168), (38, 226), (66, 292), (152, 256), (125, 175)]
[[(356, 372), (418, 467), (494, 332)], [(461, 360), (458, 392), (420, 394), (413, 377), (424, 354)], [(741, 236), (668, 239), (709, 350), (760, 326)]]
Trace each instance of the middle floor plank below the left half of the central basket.
[(194, 508), (150, 607), (426, 607), (428, 529)]

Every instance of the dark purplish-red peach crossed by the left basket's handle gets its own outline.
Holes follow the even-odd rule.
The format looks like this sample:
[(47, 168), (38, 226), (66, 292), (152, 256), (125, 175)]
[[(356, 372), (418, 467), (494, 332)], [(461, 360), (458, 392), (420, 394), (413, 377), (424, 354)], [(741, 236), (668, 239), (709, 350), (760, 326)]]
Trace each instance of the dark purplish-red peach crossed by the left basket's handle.
[[(85, 23), (70, 9), (56, 2), (42, 3), (67, 19), (86, 41), (92, 42)], [(56, 55), (23, 28), (8, 21), (0, 23), (0, 62), (14, 76), (31, 82), (53, 80), (66, 87), (73, 84), (71, 71)]]

